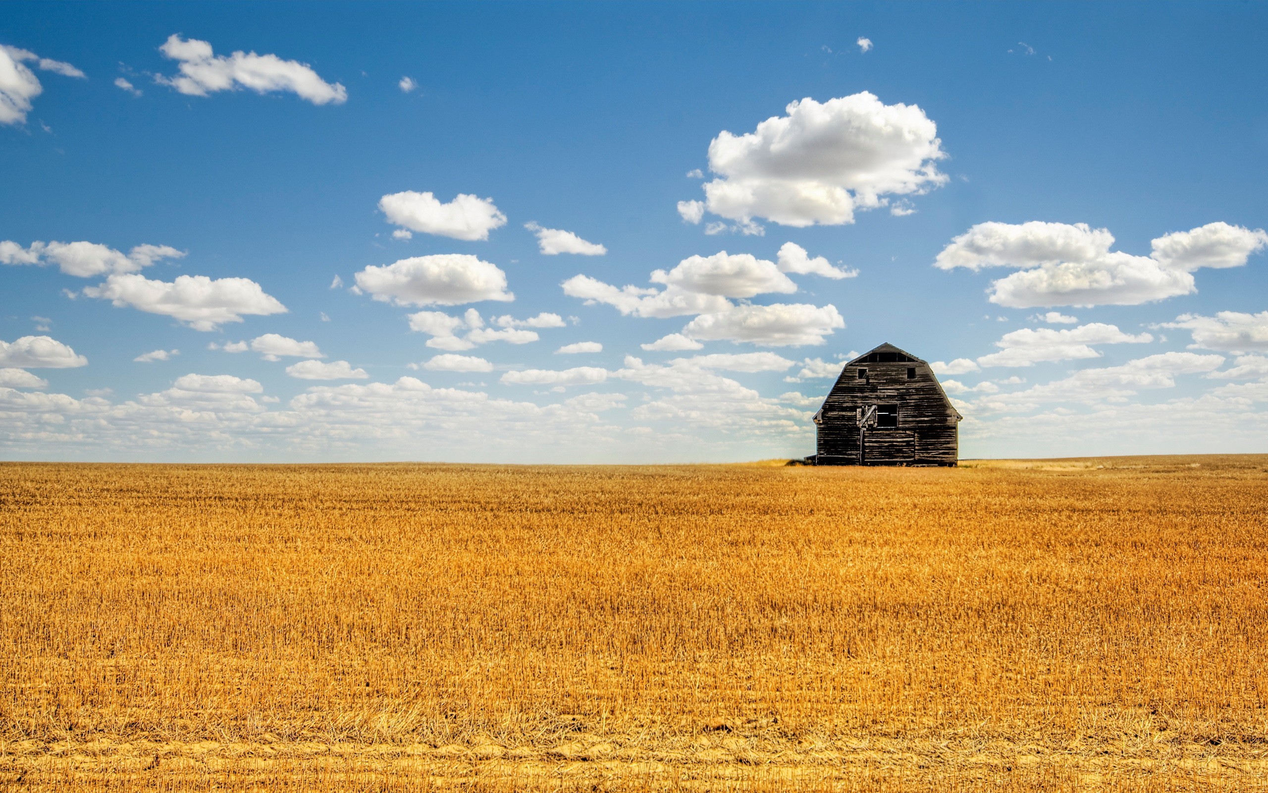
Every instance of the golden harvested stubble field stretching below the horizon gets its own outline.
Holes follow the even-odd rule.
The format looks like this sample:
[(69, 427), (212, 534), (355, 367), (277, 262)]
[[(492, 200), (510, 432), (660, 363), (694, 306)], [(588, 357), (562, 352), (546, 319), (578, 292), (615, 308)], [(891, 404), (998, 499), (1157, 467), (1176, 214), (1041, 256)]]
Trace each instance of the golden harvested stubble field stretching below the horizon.
[(1268, 790), (1268, 455), (0, 466), (0, 788)]

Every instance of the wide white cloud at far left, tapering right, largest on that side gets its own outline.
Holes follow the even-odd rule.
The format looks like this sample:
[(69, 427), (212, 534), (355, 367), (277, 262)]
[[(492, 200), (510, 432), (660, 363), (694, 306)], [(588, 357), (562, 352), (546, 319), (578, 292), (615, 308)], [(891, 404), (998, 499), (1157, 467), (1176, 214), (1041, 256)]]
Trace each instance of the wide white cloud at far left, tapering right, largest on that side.
[(175, 317), (194, 330), (212, 331), (224, 322), (241, 322), (242, 315), (285, 313), (287, 307), (260, 284), (247, 278), (178, 275), (175, 282), (150, 280), (145, 275), (113, 274), (84, 294), (132, 306), (138, 311)]

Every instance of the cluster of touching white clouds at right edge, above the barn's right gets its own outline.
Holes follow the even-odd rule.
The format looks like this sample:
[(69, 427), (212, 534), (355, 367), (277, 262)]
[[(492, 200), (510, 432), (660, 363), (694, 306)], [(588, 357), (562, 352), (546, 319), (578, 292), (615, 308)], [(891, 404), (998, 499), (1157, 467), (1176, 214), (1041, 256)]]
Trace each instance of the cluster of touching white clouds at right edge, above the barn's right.
[(1268, 235), (1207, 223), (1153, 241), (1149, 256), (1111, 251), (1113, 235), (1087, 223), (979, 223), (955, 237), (935, 260), (945, 270), (1019, 268), (995, 280), (990, 302), (1012, 308), (1135, 306), (1197, 291), (1193, 270), (1246, 263)]

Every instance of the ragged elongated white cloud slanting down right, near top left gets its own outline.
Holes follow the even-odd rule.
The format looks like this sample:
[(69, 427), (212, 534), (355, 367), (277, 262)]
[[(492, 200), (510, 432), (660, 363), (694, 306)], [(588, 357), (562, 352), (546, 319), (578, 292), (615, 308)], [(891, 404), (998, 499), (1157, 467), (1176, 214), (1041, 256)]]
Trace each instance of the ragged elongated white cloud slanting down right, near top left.
[(179, 33), (167, 37), (158, 51), (180, 62), (175, 77), (156, 75), (155, 81), (189, 96), (249, 88), (257, 94), (292, 91), (313, 104), (342, 104), (347, 90), (339, 82), (322, 80), (307, 63), (283, 61), (275, 55), (236, 51), (226, 57), (212, 52), (208, 42), (183, 41)]

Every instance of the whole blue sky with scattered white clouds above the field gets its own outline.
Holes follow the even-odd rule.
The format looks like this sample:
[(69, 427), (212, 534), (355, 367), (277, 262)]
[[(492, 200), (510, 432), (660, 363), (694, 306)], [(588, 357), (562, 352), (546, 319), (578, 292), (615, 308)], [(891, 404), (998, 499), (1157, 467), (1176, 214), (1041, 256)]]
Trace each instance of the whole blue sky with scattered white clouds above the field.
[(1262, 6), (5, 10), (5, 458), (803, 455), (883, 341), (964, 457), (1268, 440)]

